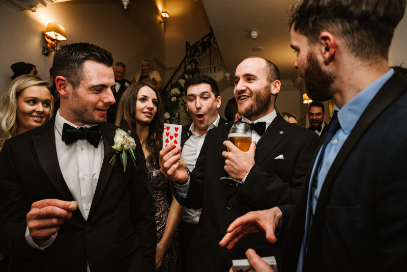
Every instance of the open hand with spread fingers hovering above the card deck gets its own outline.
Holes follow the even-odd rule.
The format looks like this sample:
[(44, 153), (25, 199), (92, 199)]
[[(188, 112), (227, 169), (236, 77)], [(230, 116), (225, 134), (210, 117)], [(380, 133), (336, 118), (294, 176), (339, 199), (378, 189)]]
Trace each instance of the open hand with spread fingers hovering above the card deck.
[(269, 210), (250, 211), (238, 217), (227, 228), (227, 233), (219, 242), (221, 247), (232, 249), (235, 244), (246, 234), (266, 232), (266, 239), (275, 243), (277, 238), (275, 230), (281, 228), (282, 212), (278, 207)]

